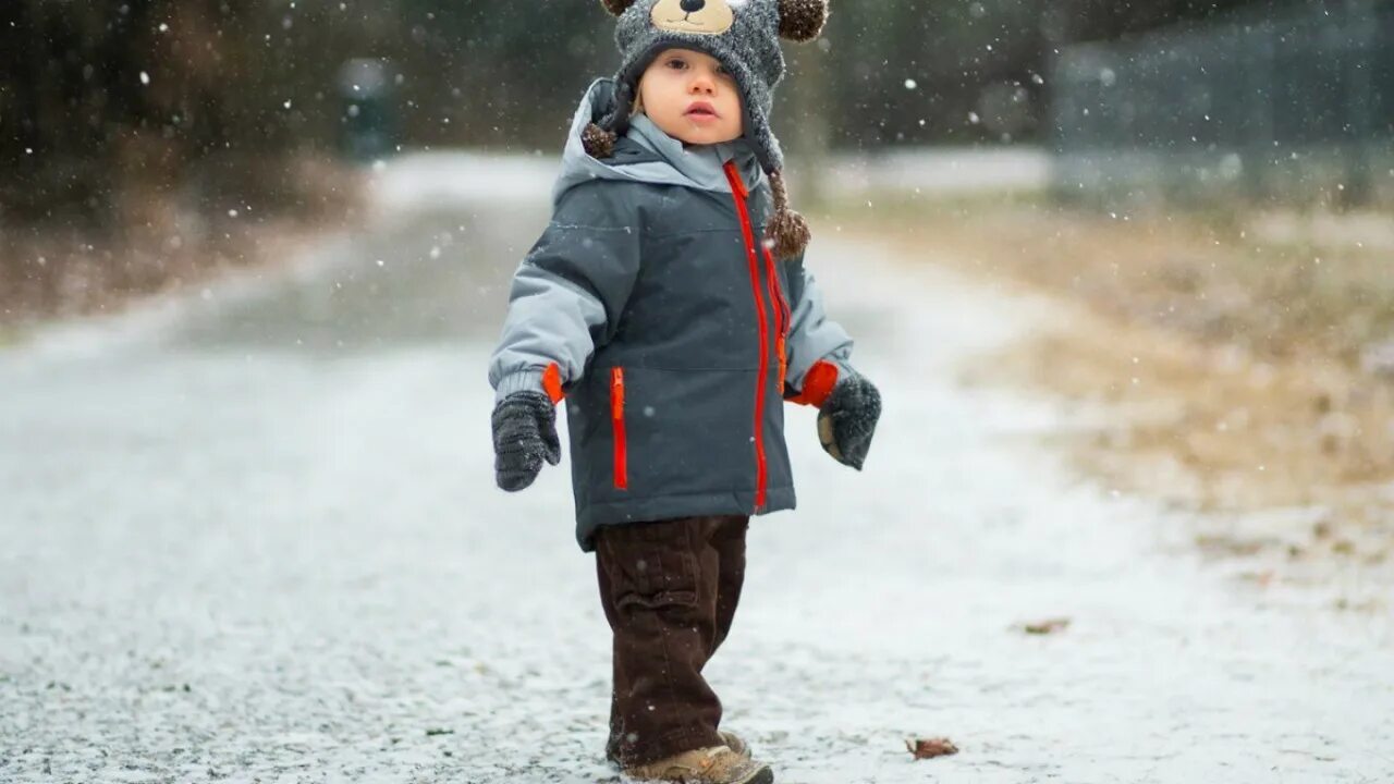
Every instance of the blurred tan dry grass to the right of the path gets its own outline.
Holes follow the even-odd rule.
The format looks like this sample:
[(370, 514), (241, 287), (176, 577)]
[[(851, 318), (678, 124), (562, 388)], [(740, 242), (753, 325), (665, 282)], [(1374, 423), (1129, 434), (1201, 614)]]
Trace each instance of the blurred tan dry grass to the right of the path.
[[(1225, 554), (1394, 555), (1394, 218), (1108, 216), (1032, 197), (842, 205), (909, 264), (1058, 296), (1069, 318), (969, 378), (1117, 416), (1057, 435), (1112, 487), (1269, 523), (1200, 534)], [(1322, 230), (1310, 230), (1320, 226)], [(1330, 561), (1330, 559), (1327, 559)]]

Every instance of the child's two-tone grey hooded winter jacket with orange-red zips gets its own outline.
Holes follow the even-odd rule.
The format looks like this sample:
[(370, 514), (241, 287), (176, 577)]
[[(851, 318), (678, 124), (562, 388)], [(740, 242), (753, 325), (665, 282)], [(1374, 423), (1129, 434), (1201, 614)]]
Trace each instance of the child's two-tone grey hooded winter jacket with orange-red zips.
[(749, 144), (684, 146), (640, 114), (597, 160), (580, 134), (612, 93), (597, 80), (576, 112), (489, 363), (499, 399), (565, 395), (587, 551), (602, 525), (792, 509), (781, 402), (815, 363), (852, 372), (803, 258), (760, 243), (772, 199)]

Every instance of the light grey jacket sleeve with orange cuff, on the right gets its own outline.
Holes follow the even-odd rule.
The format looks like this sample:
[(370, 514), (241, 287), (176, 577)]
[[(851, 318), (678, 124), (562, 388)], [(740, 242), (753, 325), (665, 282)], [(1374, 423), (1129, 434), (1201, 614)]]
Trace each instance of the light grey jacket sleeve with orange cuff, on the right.
[(853, 374), (853, 340), (842, 325), (828, 318), (822, 307), (822, 292), (804, 266), (803, 255), (789, 265), (790, 325), (785, 347), (785, 399), (822, 406), (838, 379)]

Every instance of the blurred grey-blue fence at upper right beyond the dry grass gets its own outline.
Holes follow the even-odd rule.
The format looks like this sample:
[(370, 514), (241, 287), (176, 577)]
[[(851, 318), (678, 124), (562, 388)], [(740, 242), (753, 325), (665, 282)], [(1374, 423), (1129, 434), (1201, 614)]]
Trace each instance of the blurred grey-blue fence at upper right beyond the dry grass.
[(1394, 201), (1394, 3), (1075, 46), (1052, 84), (1062, 198)]

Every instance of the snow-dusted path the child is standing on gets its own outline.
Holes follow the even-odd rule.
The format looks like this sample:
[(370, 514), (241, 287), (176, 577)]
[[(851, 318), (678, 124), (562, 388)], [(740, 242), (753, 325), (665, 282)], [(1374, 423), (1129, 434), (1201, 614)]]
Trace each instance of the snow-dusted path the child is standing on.
[[(350, 261), (0, 353), (0, 781), (616, 780), (565, 466), (492, 485), (551, 170), (509, 166), (403, 162)], [(800, 508), (710, 670), (778, 780), (1394, 781), (1394, 622), (1236, 589), (1073, 480), (1050, 406), (953, 381), (1044, 306), (881, 255), (810, 255), (887, 398), (867, 472), (789, 412)]]

